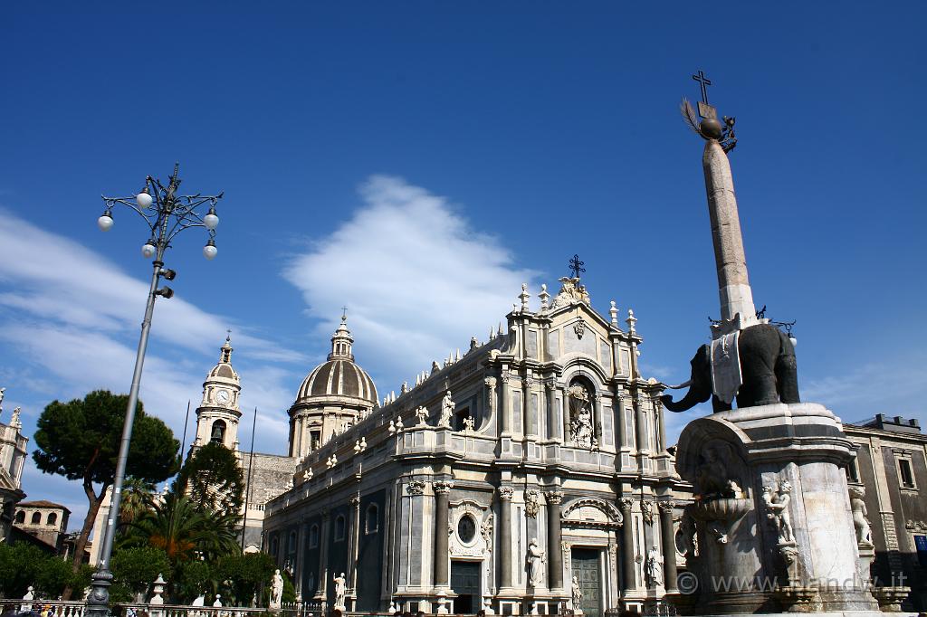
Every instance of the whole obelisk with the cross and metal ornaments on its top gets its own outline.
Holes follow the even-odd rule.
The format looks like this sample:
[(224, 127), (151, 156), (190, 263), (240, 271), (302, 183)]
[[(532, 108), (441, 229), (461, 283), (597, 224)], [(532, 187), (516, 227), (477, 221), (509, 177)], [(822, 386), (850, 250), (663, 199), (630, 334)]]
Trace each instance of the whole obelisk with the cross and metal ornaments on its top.
[(702, 168), (705, 171), (705, 193), (708, 196), (708, 216), (711, 237), (715, 245), (717, 293), (721, 301), (721, 321), (713, 326), (713, 336), (727, 334), (757, 323), (753, 292), (747, 276), (747, 259), (743, 252), (741, 221), (737, 213), (737, 197), (730, 173), (730, 161), (725, 149), (733, 147), (733, 119), (725, 118), (725, 126), (717, 120), (715, 107), (708, 104), (707, 85), (703, 71), (692, 75), (702, 86), (699, 116), (695, 118), (689, 101), (683, 99), (683, 117), (705, 139)]

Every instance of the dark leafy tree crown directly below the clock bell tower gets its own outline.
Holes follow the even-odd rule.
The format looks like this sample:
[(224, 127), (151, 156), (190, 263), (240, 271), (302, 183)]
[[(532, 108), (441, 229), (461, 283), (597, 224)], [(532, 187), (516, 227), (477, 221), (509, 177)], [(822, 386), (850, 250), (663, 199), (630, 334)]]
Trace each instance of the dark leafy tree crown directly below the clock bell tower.
[(245, 502), (245, 477), (235, 452), (210, 442), (187, 459), (173, 490), (188, 495), (197, 510), (237, 519)]

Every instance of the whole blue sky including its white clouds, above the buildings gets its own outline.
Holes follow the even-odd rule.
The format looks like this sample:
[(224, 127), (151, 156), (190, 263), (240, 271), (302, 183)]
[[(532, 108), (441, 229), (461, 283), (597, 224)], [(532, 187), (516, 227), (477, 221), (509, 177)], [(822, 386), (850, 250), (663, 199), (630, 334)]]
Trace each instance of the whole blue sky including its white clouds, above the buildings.
[[(386, 393), (574, 253), (596, 308), (634, 309), (647, 376), (684, 380), (718, 312), (702, 145), (677, 109), (697, 69), (737, 118), (754, 296), (798, 322), (803, 397), (927, 421), (922, 3), (4, 13), (0, 385), (27, 434), (55, 398), (128, 390), (146, 233), (128, 212), (99, 233), (99, 195), (175, 160), (185, 190), (226, 195), (219, 257), (182, 235), (155, 314), (142, 397), (178, 436), (226, 328), (258, 449), (282, 453), (339, 307)], [(24, 488), (83, 518), (75, 483), (31, 465)]]

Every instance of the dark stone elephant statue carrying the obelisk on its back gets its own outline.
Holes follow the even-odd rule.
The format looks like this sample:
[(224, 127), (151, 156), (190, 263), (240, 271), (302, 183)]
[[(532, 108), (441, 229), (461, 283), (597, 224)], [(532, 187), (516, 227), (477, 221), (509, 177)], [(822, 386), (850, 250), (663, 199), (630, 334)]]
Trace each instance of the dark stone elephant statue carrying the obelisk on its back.
[[(737, 407), (756, 407), (775, 403), (799, 403), (795, 349), (779, 328), (757, 323), (740, 331), (737, 338), (742, 383), (737, 390)], [(660, 397), (670, 411), (686, 411), (709, 397), (715, 411), (731, 409), (717, 397), (712, 381), (711, 345), (703, 345), (692, 358), (692, 379), (678, 387), (689, 386), (689, 392), (678, 401)]]

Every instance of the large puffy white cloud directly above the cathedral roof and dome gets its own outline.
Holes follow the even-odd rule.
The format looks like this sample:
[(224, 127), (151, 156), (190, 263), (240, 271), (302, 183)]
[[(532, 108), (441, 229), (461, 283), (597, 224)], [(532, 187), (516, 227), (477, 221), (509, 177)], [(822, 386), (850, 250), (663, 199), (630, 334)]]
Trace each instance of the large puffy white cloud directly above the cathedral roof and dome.
[(471, 336), (485, 340), (535, 273), (516, 268), (445, 197), (387, 176), (370, 178), (361, 196), (353, 216), (293, 257), (284, 275), (323, 321), (320, 336), (334, 330), (342, 304), (349, 308), (355, 354), (383, 368), (378, 376), (392, 380), (378, 380), (385, 393)]

